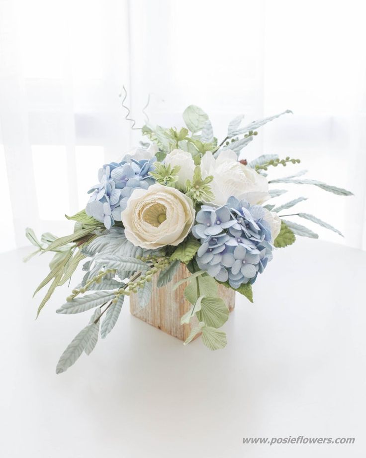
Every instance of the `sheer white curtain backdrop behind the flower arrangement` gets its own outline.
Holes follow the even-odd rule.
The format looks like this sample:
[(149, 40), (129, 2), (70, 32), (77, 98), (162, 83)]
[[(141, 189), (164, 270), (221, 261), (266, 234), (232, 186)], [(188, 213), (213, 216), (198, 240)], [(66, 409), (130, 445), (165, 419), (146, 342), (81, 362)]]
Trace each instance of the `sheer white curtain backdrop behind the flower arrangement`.
[(178, 127), (193, 103), (219, 138), (236, 114), (293, 110), (243, 156), (299, 157), (351, 189), (292, 186), (283, 200), (310, 197), (299, 208), (346, 235), (323, 238), (366, 249), (363, 17), (360, 1), (0, 0), (0, 250), (25, 245), (26, 226), (70, 230), (98, 167), (138, 142), (122, 85), (137, 125), (151, 94), (153, 122)]

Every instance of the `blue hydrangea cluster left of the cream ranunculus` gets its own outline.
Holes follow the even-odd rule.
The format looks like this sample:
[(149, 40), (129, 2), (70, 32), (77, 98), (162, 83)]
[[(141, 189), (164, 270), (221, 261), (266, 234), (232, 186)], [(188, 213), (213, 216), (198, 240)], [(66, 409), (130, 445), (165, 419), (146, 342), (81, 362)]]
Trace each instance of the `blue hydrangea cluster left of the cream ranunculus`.
[(91, 197), (85, 209), (87, 214), (104, 223), (107, 229), (115, 221), (121, 221), (121, 212), (133, 190), (147, 189), (154, 183), (148, 173), (153, 170), (155, 161), (155, 157), (149, 161), (131, 158), (104, 165), (98, 172), (99, 183), (88, 191)]

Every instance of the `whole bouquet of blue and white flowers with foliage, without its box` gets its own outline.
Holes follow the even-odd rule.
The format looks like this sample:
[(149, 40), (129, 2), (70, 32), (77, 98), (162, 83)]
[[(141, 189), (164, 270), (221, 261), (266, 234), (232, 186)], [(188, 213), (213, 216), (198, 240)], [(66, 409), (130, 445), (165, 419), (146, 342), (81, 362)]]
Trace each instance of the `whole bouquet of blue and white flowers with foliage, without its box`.
[[(270, 189), (275, 183), (314, 185), (334, 194), (349, 196), (345, 189), (316, 180), (299, 178), (305, 172), (268, 179), (271, 167), (298, 164), (299, 159), (262, 155), (251, 162), (239, 155), (257, 136), (261, 126), (285, 111), (242, 126), (244, 116), (233, 119), (226, 138), (219, 142), (211, 122), (200, 108), (183, 113), (186, 127), (144, 125), (148, 139), (122, 161), (103, 165), (98, 183), (89, 190), (85, 210), (67, 218), (75, 222), (72, 234), (57, 238), (44, 233), (38, 240), (32, 229), (28, 239), (36, 253), (54, 252), (50, 272), (36, 289), (47, 293), (38, 313), (57, 286), (70, 281), (80, 262), (85, 275), (57, 313), (74, 314), (93, 309), (90, 321), (67, 346), (56, 372), (67, 370), (83, 351), (90, 354), (99, 332), (105, 338), (113, 329), (125, 296), (137, 294), (140, 307), (149, 303), (152, 278), (157, 286), (169, 283), (180, 264), (190, 276), (184, 296), (191, 304), (181, 323), (195, 318), (184, 343), (197, 335), (209, 349), (226, 345), (219, 330), (227, 321), (227, 304), (218, 297), (222, 284), (253, 302), (252, 285), (273, 257), (275, 248), (295, 241), (295, 236), (317, 238), (303, 225), (284, 219), (281, 212), (305, 200), (299, 197), (276, 206), (273, 200), (285, 190)], [(341, 234), (322, 220), (309, 220)], [(342, 235), (342, 234), (341, 234)]]

